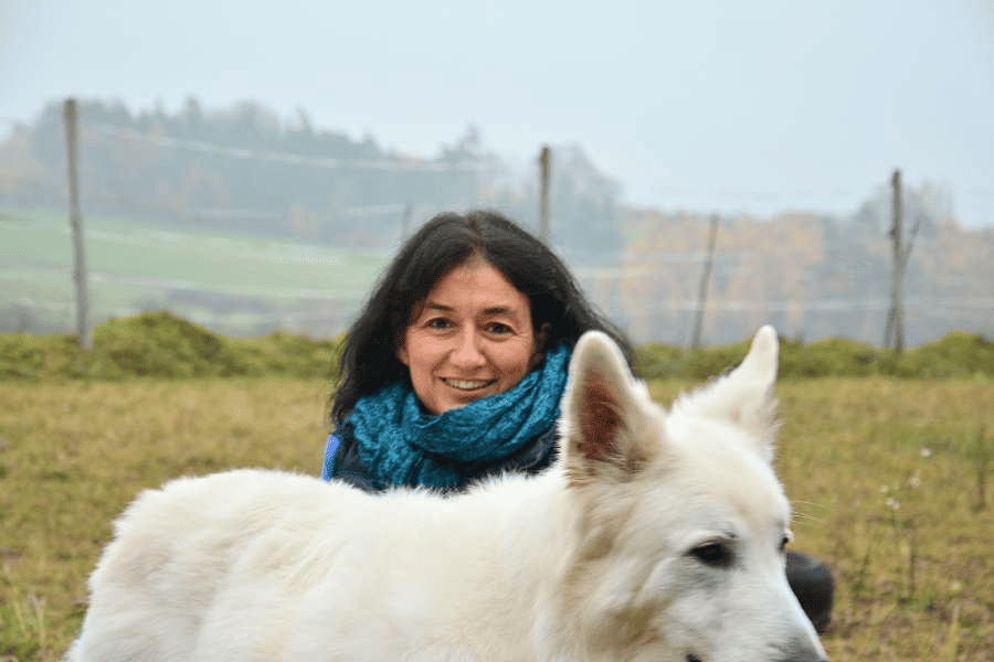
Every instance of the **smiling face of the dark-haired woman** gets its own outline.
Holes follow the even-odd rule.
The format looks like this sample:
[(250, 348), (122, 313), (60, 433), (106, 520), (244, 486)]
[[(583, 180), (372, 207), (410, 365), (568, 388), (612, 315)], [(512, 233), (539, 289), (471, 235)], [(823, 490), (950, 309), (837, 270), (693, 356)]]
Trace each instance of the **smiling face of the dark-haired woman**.
[(509, 391), (536, 352), (528, 297), (479, 256), (438, 279), (398, 350), (433, 414)]

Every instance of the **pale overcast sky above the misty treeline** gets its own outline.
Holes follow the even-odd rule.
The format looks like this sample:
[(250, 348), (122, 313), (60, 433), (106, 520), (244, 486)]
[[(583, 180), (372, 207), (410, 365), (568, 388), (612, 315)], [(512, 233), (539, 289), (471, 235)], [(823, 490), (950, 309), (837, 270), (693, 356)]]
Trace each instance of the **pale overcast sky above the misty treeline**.
[(575, 142), (663, 209), (848, 213), (900, 167), (994, 225), (994, 0), (0, 0), (0, 131), (66, 95)]

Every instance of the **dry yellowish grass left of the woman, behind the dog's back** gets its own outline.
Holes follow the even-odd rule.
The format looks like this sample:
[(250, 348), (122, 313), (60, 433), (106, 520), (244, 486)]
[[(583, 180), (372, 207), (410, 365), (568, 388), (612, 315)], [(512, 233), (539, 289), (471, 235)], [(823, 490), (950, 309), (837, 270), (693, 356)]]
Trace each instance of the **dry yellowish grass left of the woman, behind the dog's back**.
[(320, 380), (0, 383), (0, 660), (59, 659), (139, 490), (233, 467), (319, 471), (328, 393)]

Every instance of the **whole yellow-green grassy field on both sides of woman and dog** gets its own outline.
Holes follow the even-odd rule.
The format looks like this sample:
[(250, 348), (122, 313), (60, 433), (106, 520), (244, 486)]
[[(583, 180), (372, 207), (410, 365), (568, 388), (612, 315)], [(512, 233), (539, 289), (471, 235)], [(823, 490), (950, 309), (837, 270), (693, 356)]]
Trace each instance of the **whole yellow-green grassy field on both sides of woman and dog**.
[[(654, 381), (660, 402), (685, 383)], [(110, 522), (231, 467), (317, 473), (319, 378), (0, 381), (0, 660), (57, 660)], [(779, 385), (795, 548), (829, 563), (833, 660), (994, 660), (994, 382)]]

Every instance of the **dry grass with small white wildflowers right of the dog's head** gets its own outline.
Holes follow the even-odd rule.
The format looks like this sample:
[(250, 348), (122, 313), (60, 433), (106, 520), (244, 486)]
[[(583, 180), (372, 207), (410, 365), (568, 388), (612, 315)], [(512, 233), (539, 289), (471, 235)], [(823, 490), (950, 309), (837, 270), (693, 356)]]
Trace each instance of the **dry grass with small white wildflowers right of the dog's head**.
[(994, 480), (979, 473), (984, 458), (994, 472), (994, 382), (825, 378), (778, 395), (794, 548), (836, 580), (829, 658), (994, 660)]

